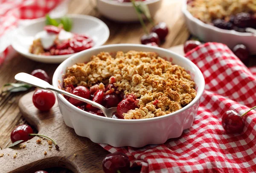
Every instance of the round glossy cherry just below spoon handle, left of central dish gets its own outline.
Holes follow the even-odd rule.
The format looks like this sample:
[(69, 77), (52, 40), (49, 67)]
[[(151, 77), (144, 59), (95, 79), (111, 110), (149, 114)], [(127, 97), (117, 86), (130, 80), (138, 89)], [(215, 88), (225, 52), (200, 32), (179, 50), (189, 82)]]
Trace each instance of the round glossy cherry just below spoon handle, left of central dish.
[(38, 89), (32, 96), (33, 103), (40, 111), (49, 111), (55, 104), (55, 95), (52, 91)]

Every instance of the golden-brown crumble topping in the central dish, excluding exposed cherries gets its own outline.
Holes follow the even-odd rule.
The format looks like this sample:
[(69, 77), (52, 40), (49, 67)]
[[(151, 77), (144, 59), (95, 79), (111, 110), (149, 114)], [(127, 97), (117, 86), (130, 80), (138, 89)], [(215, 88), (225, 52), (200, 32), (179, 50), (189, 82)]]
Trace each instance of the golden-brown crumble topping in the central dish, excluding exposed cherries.
[(125, 119), (163, 116), (186, 106), (196, 96), (195, 82), (184, 68), (154, 52), (118, 51), (113, 56), (101, 52), (90, 62), (67, 68), (64, 75), (64, 86), (92, 87), (99, 83), (111, 83), (125, 95), (136, 96), (138, 108), (123, 113)]

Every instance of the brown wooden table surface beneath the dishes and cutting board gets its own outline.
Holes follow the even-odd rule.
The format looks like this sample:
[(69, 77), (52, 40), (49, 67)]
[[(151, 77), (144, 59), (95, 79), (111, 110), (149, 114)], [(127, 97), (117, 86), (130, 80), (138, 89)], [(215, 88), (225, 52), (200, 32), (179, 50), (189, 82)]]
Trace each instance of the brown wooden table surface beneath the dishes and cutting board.
[[(110, 29), (110, 37), (106, 44), (140, 43), (140, 36), (143, 34), (143, 28), (140, 26), (140, 23), (116, 23), (108, 20), (95, 10), (95, 6), (95, 0), (71, 0), (68, 13), (87, 14), (99, 17), (103, 20)], [(169, 26), (170, 34), (167, 36), (166, 42), (161, 45), (163, 48), (183, 44), (189, 37), (189, 32), (182, 16), (181, 6), (181, 0), (163, 0), (162, 8), (154, 17), (156, 23), (164, 21)], [(151, 28), (150, 23), (147, 23), (147, 27), (148, 29)], [(14, 76), (19, 72), (31, 73), (31, 71), (38, 68), (45, 70), (47, 74), (52, 77), (57, 67), (58, 64), (39, 63), (17, 54), (11, 61), (5, 62), (0, 67), (0, 86), (5, 83), (15, 82)], [(19, 98), (26, 93), (27, 92), (6, 94), (0, 97), (1, 148), (6, 148), (11, 144), (10, 133), (12, 129), (17, 125), (26, 123), (17, 105)], [(63, 168), (52, 168), (48, 169), (48, 171), (49, 173), (70, 172)]]

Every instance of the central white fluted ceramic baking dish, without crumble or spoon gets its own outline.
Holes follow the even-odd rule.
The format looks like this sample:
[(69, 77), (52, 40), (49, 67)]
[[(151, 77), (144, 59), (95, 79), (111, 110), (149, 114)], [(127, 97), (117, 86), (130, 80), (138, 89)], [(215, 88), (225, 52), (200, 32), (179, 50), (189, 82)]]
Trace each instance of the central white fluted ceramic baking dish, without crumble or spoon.
[(143, 147), (148, 144), (163, 144), (167, 139), (179, 137), (184, 129), (190, 128), (198, 111), (200, 97), (204, 91), (204, 77), (199, 68), (187, 58), (163, 48), (139, 44), (116, 44), (91, 48), (68, 58), (56, 69), (52, 84), (63, 85), (62, 75), (67, 67), (76, 62), (89, 61), (90, 57), (101, 51), (153, 51), (166, 57), (174, 64), (181, 65), (191, 74), (196, 84), (195, 99), (184, 108), (165, 116), (150, 119), (112, 119), (82, 111), (70, 104), (61, 94), (57, 94), (58, 104), (67, 126), (74, 128), (76, 134), (96, 143), (106, 143), (114, 147)]

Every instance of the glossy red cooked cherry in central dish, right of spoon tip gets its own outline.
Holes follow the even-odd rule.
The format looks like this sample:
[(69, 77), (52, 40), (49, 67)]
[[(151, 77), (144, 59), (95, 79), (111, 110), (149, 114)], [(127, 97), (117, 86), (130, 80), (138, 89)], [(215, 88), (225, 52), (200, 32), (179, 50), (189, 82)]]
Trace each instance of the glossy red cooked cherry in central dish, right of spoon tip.
[(116, 116), (119, 119), (124, 119), (123, 113), (127, 113), (128, 111), (135, 109), (135, 100), (132, 97), (127, 97), (126, 99), (123, 99), (119, 104), (117, 105), (116, 109)]

